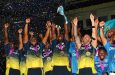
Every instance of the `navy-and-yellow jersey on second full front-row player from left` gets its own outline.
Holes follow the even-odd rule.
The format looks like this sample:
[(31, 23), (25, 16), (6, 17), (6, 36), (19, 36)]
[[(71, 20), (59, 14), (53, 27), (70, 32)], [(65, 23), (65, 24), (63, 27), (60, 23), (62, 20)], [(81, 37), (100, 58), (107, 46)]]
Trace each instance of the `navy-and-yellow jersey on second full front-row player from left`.
[(42, 49), (43, 43), (37, 43), (35, 46), (33, 46), (30, 42), (27, 42), (24, 45), (24, 50), (27, 51), (27, 68), (43, 68)]

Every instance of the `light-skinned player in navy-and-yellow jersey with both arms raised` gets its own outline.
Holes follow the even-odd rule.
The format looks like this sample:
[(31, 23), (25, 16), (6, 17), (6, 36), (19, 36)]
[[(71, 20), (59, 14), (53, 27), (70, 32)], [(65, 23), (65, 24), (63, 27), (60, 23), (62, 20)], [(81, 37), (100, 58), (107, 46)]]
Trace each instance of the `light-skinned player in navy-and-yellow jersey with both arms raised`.
[(88, 34), (85, 34), (82, 37), (82, 42), (78, 37), (77, 33), (77, 25), (78, 19), (77, 17), (74, 18), (74, 36), (75, 41), (78, 48), (78, 74), (79, 75), (93, 75), (96, 74), (95, 66), (94, 66), (94, 56), (95, 56), (95, 48), (97, 47), (97, 39), (96, 39), (96, 29), (94, 24), (94, 16), (90, 15), (90, 20), (92, 22), (92, 37)]

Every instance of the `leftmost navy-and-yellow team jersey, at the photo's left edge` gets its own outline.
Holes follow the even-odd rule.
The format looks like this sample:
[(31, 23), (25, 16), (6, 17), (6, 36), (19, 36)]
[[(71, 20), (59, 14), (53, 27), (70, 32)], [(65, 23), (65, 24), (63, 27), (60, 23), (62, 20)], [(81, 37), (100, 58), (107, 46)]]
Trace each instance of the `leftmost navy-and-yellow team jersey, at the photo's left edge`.
[(9, 44), (4, 45), (6, 54), (6, 75), (9, 74), (10, 68), (19, 70), (19, 51), (11, 48)]

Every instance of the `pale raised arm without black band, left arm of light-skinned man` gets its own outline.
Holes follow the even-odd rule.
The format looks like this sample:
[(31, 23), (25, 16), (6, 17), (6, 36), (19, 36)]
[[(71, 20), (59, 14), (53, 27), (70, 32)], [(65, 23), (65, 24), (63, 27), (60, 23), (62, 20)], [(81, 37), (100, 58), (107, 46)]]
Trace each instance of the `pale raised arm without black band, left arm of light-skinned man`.
[(78, 31), (77, 30), (77, 25), (78, 25), (78, 18), (77, 17), (74, 18), (73, 24), (74, 24), (75, 42), (76, 42), (77, 48), (80, 49), (80, 47), (81, 47), (81, 41), (79, 39), (78, 32), (77, 32)]

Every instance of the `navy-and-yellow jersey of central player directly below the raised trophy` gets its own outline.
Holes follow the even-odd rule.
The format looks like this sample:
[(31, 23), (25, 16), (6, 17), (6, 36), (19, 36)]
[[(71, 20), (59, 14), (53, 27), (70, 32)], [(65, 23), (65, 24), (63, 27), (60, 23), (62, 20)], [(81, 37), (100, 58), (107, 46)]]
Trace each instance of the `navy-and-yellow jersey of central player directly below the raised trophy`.
[(52, 57), (52, 66), (67, 66), (69, 68), (69, 42), (64, 40), (59, 42), (58, 40), (53, 40), (53, 57)]

